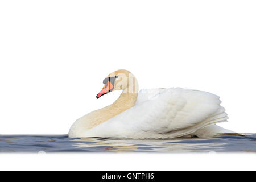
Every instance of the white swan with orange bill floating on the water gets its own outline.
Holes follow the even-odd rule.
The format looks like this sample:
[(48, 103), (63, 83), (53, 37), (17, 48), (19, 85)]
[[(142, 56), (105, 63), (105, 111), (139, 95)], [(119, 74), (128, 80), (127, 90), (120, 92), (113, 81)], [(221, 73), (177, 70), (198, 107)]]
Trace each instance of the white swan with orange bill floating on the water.
[(216, 123), (228, 119), (220, 97), (193, 89), (142, 89), (133, 73), (110, 73), (97, 98), (123, 90), (113, 104), (77, 119), (69, 138), (162, 139), (233, 134)]

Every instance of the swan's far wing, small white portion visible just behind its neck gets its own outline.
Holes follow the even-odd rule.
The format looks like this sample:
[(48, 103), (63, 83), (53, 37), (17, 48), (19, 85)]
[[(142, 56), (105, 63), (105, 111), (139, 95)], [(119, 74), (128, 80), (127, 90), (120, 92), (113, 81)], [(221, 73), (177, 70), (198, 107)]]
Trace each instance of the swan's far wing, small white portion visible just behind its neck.
[(137, 101), (136, 101), (135, 105), (139, 105), (146, 100), (151, 100), (152, 97), (158, 96), (160, 93), (164, 92), (164, 90), (166, 90), (166, 88), (139, 90)]

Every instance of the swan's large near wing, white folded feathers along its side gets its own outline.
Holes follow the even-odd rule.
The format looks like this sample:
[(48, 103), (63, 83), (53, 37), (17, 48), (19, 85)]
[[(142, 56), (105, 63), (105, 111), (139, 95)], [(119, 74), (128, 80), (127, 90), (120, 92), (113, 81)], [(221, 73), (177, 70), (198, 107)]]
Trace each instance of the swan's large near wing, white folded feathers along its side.
[(88, 137), (172, 138), (228, 119), (218, 96), (170, 88), (86, 132)]

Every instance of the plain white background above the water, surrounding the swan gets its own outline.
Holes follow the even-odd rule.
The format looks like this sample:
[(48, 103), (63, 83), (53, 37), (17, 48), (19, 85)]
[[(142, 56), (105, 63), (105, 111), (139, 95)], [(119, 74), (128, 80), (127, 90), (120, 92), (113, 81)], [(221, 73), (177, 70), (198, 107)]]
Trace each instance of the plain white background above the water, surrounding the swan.
[[(221, 97), (229, 122), (256, 132), (255, 1), (1, 1), (0, 134), (67, 134), (111, 104), (102, 80)], [(168, 166), (166, 166), (168, 169)]]

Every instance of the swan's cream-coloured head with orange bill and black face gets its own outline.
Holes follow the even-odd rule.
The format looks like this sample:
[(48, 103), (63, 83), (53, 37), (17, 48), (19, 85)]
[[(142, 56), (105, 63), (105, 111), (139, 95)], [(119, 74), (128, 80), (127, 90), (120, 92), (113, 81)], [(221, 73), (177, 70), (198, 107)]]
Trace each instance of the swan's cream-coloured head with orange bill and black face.
[(103, 84), (104, 86), (101, 92), (97, 94), (97, 98), (100, 98), (104, 94), (112, 92), (113, 90), (124, 90), (126, 93), (138, 92), (138, 83), (136, 78), (131, 72), (125, 69), (119, 69), (110, 73), (103, 80)]

